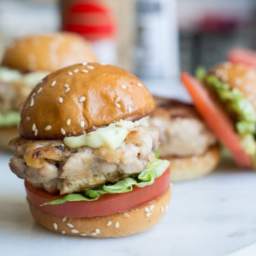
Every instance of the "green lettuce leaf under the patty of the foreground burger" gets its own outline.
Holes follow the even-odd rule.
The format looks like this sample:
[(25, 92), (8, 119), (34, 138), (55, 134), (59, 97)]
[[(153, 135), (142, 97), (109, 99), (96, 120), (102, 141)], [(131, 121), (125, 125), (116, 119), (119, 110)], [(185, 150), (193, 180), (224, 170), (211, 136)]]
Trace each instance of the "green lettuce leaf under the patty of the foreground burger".
[(136, 178), (127, 177), (112, 185), (102, 185), (95, 189), (87, 189), (80, 194), (68, 194), (60, 199), (46, 202), (43, 205), (54, 205), (72, 201), (95, 201), (104, 194), (120, 194), (133, 190), (133, 186), (143, 188), (155, 182), (169, 166), (169, 161), (155, 159), (154, 162), (146, 165), (146, 169), (137, 175)]

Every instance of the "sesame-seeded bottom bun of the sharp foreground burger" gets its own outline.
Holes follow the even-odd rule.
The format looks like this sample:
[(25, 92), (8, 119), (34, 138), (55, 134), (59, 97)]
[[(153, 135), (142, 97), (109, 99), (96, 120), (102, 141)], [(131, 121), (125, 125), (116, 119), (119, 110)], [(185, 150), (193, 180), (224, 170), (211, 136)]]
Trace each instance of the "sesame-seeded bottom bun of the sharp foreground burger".
[(54, 232), (72, 236), (97, 238), (130, 236), (151, 229), (168, 209), (170, 187), (155, 200), (135, 209), (108, 216), (74, 218), (50, 215), (30, 204), (35, 220)]

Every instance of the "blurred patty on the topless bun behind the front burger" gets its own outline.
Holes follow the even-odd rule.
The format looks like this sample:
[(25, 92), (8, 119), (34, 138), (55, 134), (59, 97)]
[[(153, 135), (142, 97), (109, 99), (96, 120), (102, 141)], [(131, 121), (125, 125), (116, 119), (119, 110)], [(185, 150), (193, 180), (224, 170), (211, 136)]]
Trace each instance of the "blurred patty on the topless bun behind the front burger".
[(177, 101), (156, 108), (149, 124), (160, 130), (163, 157), (201, 155), (217, 141), (195, 109)]

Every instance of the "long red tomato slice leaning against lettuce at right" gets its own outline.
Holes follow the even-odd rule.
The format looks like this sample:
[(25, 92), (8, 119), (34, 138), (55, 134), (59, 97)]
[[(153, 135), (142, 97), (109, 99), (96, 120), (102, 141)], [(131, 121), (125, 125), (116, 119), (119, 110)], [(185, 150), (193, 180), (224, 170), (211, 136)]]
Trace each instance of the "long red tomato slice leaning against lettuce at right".
[(195, 107), (202, 115), (209, 128), (211, 128), (222, 143), (229, 148), (236, 163), (241, 167), (251, 168), (253, 166), (251, 158), (244, 151), (233, 122), (223, 111), (216, 97), (210, 94), (200, 81), (186, 72), (182, 72), (181, 80), (188, 89)]

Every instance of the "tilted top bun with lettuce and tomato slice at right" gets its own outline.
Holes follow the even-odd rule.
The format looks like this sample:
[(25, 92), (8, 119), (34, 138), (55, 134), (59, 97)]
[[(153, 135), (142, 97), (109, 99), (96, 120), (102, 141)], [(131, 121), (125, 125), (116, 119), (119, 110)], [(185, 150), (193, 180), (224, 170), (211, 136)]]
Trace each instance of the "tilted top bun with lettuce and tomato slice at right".
[(182, 82), (236, 163), (252, 168), (256, 158), (256, 69), (224, 62), (208, 74), (198, 69), (197, 79), (183, 72)]

